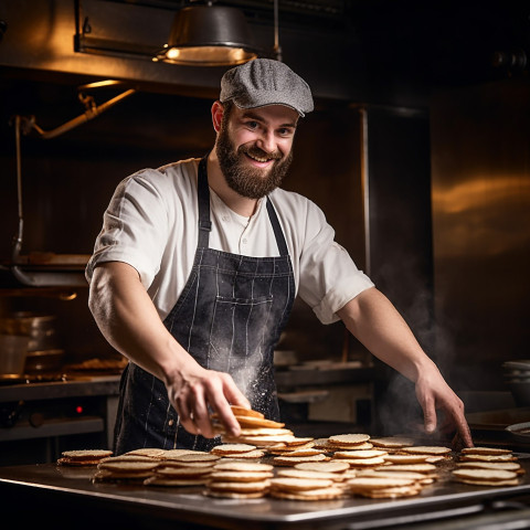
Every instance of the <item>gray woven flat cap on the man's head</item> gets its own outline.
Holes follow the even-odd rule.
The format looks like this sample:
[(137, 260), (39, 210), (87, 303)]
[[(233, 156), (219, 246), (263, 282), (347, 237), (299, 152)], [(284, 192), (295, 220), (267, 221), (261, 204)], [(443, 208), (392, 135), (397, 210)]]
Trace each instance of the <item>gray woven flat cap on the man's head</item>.
[(309, 85), (286, 64), (255, 59), (229, 70), (221, 80), (220, 102), (232, 99), (240, 108), (285, 105), (300, 116), (314, 108)]

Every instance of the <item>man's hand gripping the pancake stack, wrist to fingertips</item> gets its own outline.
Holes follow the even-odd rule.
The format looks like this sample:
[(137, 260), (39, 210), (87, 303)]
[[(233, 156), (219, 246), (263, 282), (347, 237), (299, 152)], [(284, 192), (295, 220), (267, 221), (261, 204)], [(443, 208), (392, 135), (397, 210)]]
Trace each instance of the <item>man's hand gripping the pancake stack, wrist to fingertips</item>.
[(216, 412), (226, 433), (239, 436), (241, 427), (230, 405), (251, 409), (232, 377), (227, 373), (193, 367), (188, 375), (178, 374), (166, 381), (169, 401), (177, 410), (181, 425), (191, 434), (212, 438), (215, 433), (210, 415)]

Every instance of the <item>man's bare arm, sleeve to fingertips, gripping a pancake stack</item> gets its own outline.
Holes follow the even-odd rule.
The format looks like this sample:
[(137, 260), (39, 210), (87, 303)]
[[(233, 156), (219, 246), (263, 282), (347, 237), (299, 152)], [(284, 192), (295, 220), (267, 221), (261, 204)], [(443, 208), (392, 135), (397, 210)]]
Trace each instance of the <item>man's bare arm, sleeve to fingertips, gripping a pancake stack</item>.
[(187, 431), (213, 436), (210, 406), (229, 432), (240, 434), (229, 403), (250, 406), (247, 400), (229, 374), (203, 369), (177, 342), (134, 267), (121, 262), (98, 265), (88, 306), (110, 346), (163, 381)]

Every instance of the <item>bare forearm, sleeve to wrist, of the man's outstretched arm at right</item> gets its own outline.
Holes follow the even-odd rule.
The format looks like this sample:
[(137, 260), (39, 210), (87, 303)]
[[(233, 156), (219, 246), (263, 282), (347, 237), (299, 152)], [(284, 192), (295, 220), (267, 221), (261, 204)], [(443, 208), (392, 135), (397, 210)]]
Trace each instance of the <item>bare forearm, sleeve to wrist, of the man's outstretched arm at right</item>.
[(372, 354), (411, 381), (416, 382), (425, 370), (437, 370), (407, 324), (378, 289), (364, 290), (338, 315)]

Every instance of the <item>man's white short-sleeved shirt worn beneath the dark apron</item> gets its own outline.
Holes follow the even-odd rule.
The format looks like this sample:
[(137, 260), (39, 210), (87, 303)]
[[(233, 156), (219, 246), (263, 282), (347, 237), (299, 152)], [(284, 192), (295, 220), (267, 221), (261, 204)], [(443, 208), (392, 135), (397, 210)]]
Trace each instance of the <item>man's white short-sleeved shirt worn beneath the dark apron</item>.
[[(145, 169), (123, 180), (105, 211), (86, 278), (104, 262), (125, 262), (138, 271), (160, 318), (177, 303), (190, 275), (198, 243), (199, 159)], [(296, 292), (322, 324), (372, 287), (348, 252), (333, 241), (322, 211), (305, 197), (276, 189), (271, 200), (293, 262)], [(278, 256), (265, 199), (252, 218), (230, 210), (210, 189), (210, 247), (253, 257)]]

